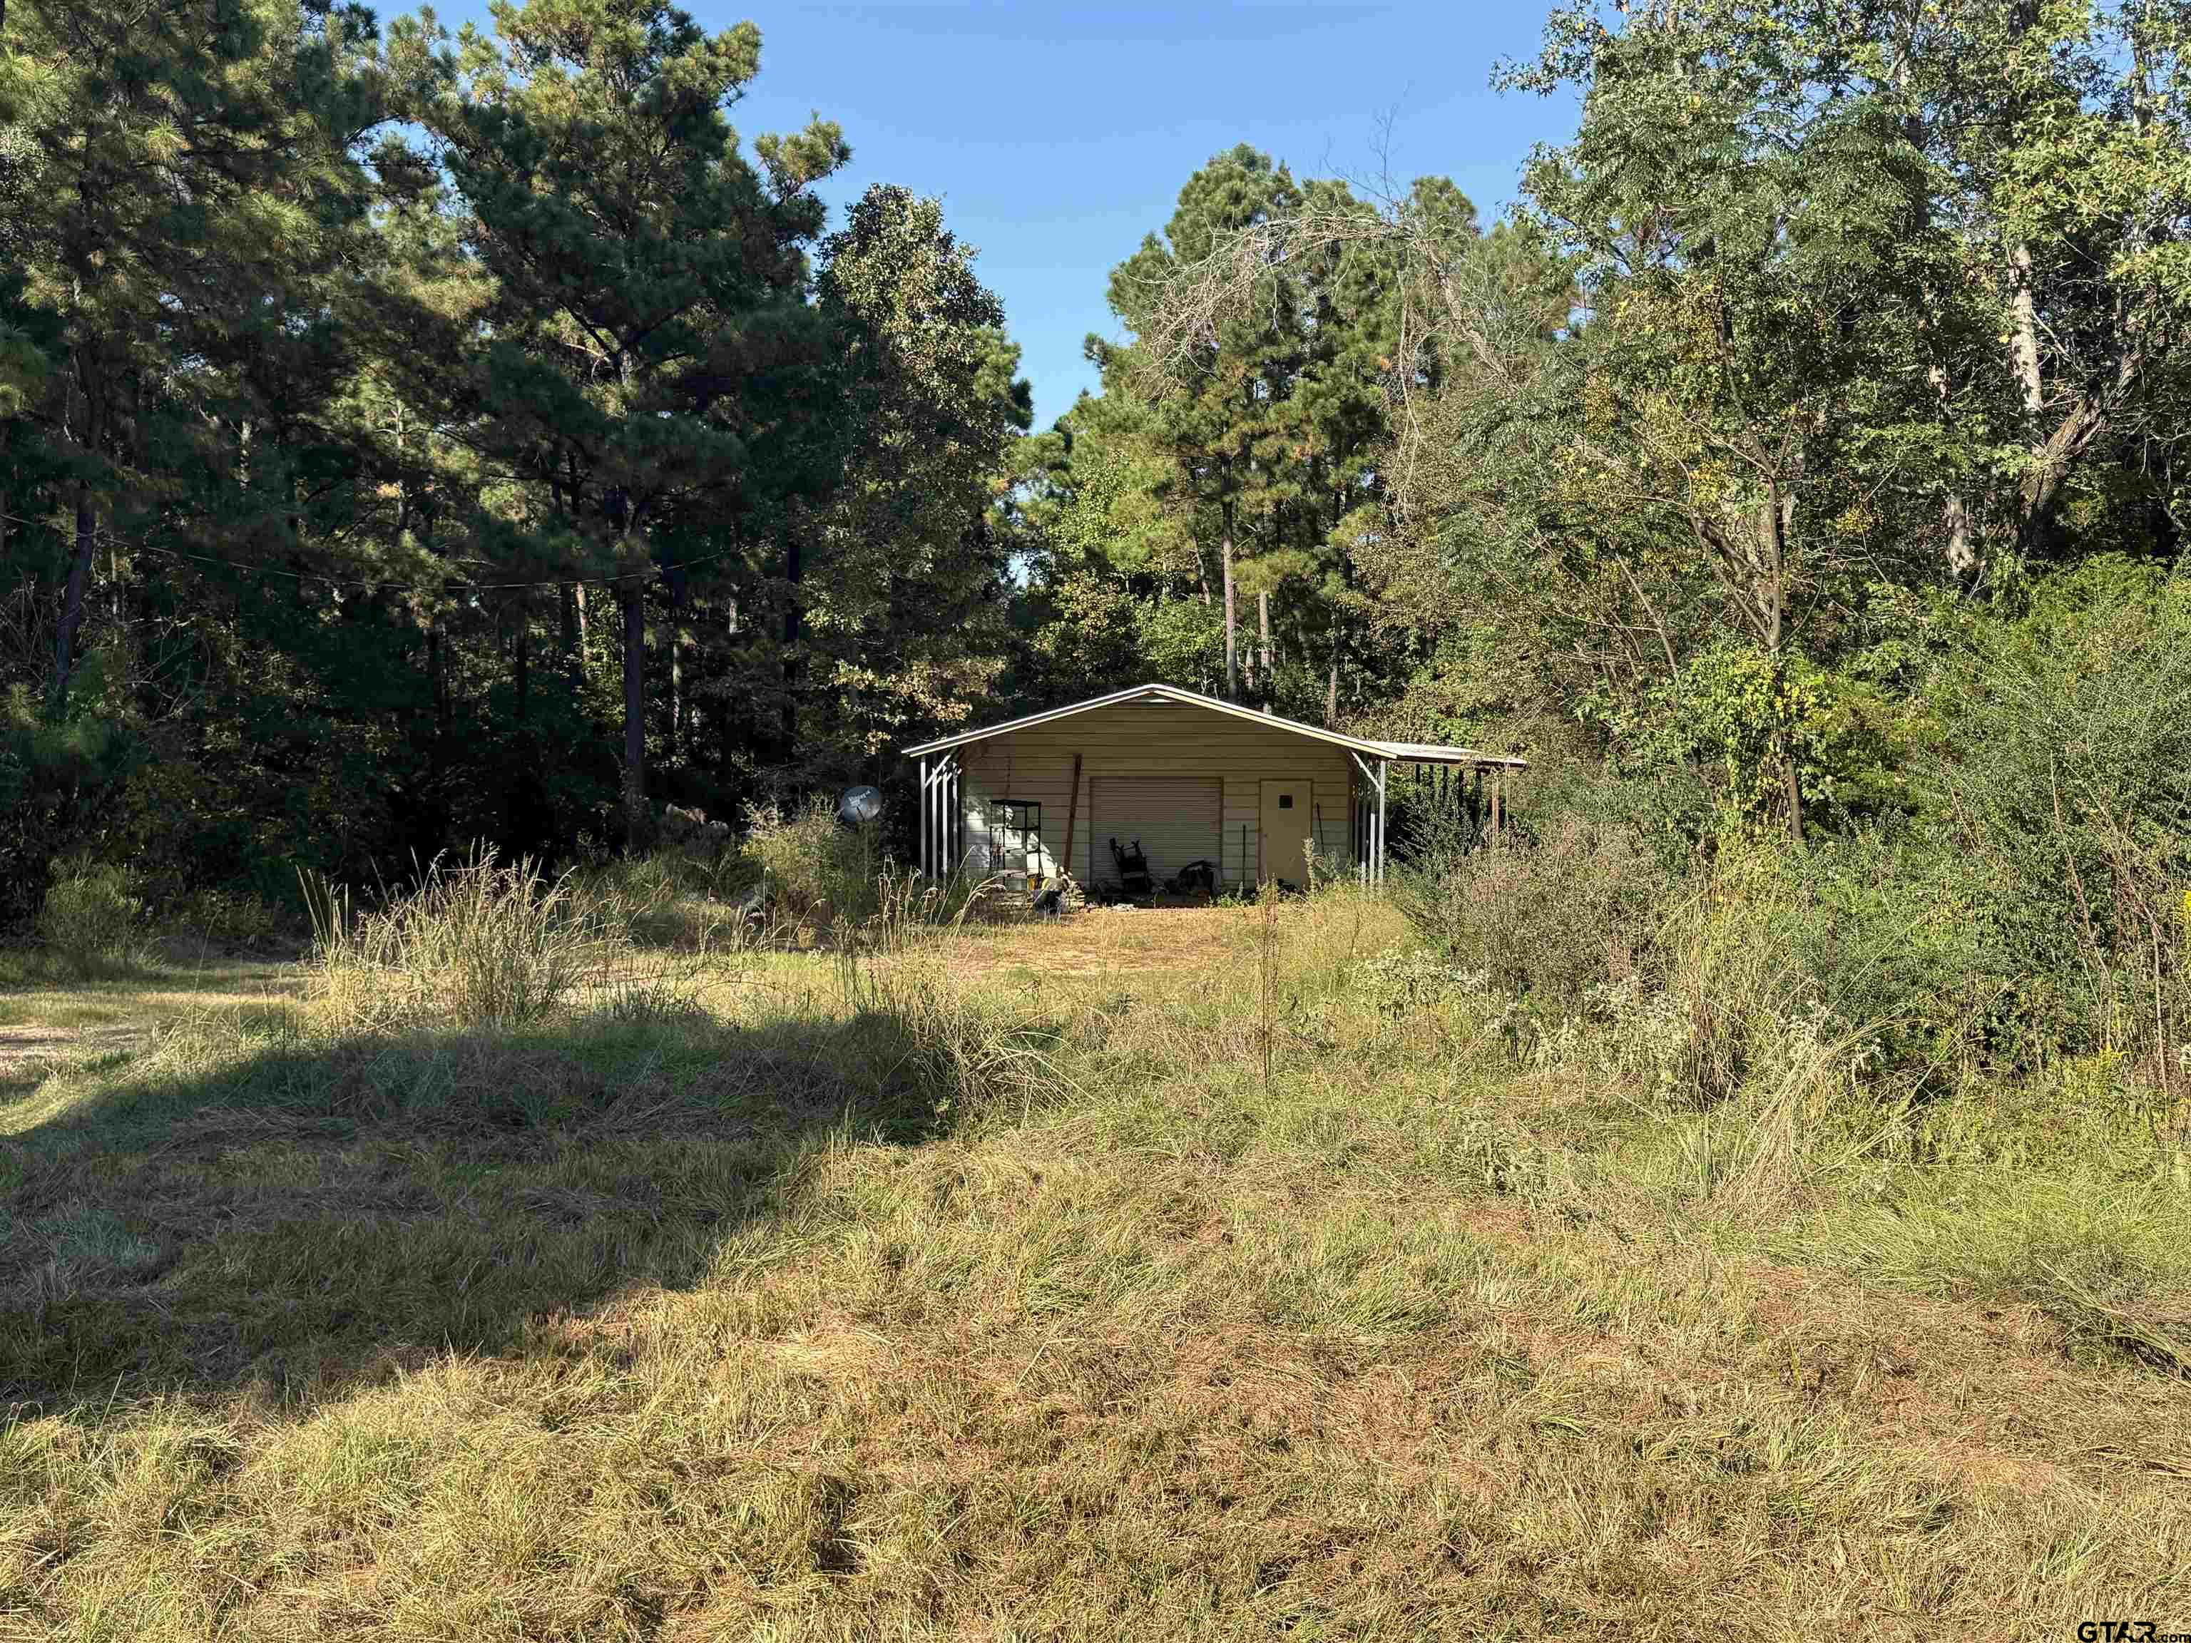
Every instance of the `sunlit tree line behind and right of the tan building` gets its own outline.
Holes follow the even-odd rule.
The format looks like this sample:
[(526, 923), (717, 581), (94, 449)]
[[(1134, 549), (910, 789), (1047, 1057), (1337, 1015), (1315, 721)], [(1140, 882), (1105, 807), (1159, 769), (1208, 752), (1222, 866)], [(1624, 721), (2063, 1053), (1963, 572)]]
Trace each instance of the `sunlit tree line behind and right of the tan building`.
[(1575, 4), (1499, 72), (1582, 120), (1490, 232), (1444, 180), (1212, 160), (1030, 440), (1036, 648), (1687, 771), (1797, 839), (1906, 813), (1974, 629), (2184, 567), (2187, 42), (2182, 4)]

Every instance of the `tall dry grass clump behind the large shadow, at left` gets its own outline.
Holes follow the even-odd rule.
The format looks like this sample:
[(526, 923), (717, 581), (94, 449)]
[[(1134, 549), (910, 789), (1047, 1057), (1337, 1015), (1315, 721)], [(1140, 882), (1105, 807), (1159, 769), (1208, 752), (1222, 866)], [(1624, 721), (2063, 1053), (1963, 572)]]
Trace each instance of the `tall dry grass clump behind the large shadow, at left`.
[(613, 944), (572, 876), (491, 848), (436, 857), (418, 885), (357, 909), (346, 889), (307, 885), (309, 997), (322, 1019), (370, 1032), (432, 1021), (513, 1027), (539, 1021), (600, 975)]

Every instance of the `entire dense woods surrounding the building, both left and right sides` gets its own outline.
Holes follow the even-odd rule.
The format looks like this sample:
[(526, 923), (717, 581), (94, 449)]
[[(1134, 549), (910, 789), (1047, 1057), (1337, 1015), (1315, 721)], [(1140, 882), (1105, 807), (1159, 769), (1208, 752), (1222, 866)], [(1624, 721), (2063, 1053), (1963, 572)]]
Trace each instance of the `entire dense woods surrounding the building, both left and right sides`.
[(1218, 153), (1045, 432), (922, 180), (833, 230), (846, 134), (734, 127), (756, 26), (493, 18), (0, 20), (9, 920), (603, 857), (1168, 679), (1786, 841), (1952, 931), (1959, 1032), (2169, 1062), (2191, 7), (1560, 7), (1512, 212)]

